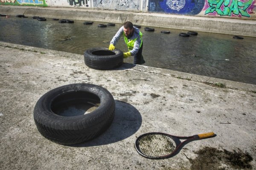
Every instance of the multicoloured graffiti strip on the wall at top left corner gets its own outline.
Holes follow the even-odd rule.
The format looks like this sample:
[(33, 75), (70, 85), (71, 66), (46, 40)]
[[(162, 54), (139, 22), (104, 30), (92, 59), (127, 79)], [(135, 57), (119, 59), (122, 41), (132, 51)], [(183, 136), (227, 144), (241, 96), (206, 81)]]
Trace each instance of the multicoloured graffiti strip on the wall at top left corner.
[(47, 6), (44, 0), (0, 0), (3, 5)]

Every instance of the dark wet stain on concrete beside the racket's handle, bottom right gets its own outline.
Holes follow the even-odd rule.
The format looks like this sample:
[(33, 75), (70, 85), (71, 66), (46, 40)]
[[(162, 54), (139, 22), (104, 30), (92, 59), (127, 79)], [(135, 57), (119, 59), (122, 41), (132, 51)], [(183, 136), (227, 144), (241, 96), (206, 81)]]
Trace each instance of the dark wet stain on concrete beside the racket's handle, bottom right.
[(191, 170), (252, 169), (250, 165), (253, 160), (252, 156), (247, 152), (242, 152), (240, 149), (230, 152), (225, 149), (218, 150), (213, 147), (204, 147), (195, 153), (198, 156), (195, 159), (189, 159), (192, 164)]

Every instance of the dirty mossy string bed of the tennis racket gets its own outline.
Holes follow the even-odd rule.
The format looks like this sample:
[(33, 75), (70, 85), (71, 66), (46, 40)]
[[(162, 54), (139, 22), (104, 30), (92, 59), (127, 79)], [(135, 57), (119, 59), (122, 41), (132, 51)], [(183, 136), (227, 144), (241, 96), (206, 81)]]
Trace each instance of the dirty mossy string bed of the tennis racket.
[(138, 140), (141, 153), (148, 157), (161, 157), (171, 154), (176, 149), (175, 141), (163, 134), (148, 134)]

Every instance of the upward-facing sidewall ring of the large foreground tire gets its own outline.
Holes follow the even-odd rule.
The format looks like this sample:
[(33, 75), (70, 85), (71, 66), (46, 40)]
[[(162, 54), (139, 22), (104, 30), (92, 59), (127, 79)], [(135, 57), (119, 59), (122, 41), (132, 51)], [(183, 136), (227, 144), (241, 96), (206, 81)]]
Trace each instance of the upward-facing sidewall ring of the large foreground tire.
[[(72, 91), (85, 91), (95, 94), (100, 99), (99, 107), (95, 111), (92, 111), (81, 116), (64, 117), (53, 113), (51, 110), (53, 100), (61, 94)], [(52, 89), (51, 91), (48, 91), (38, 100), (34, 109), (34, 119), (36, 119), (36, 117), (39, 117), (39, 119), (45, 119), (47, 117), (48, 121), (50, 122), (60, 123), (64, 121), (63, 123), (65, 124), (73, 124), (73, 122), (77, 122), (79, 124), (79, 122), (82, 123), (86, 121), (86, 119), (92, 119), (92, 117), (97, 117), (97, 119), (95, 119), (94, 122), (87, 123), (87, 126), (90, 127), (94, 124), (98, 124), (104, 121), (105, 117), (101, 115), (102, 113), (106, 113), (105, 110), (109, 108), (108, 104), (110, 102), (112, 103), (113, 101), (114, 99), (110, 92), (98, 85), (83, 83), (64, 85)], [(93, 125), (90, 125), (91, 123)]]

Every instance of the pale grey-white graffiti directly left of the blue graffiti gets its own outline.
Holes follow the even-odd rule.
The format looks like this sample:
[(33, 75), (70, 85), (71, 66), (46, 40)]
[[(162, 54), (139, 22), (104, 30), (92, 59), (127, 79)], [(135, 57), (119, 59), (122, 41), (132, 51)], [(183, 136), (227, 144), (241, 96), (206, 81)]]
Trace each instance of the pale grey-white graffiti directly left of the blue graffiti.
[(138, 11), (139, 2), (140, 0), (95, 0), (93, 5), (96, 8)]

